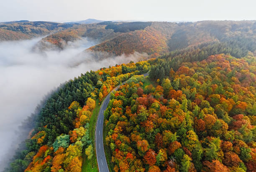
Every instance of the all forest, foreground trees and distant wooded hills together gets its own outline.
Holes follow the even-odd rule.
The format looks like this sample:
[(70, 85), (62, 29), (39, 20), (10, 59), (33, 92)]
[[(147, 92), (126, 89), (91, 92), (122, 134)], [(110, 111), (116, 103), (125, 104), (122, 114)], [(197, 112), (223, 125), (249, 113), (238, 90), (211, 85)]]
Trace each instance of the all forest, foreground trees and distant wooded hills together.
[[(64, 48), (63, 42), (88, 36), (102, 41), (92, 51), (155, 58), (103, 67), (62, 84), (44, 102), (31, 138), (5, 172), (98, 171), (97, 115), (125, 81), (110, 93), (104, 114), (110, 172), (255, 171), (255, 22), (102, 22), (64, 24), (66, 30), (51, 24), (31, 24), (59, 30), (39, 43)], [(3, 35), (24, 36), (22, 27), (11, 25), (16, 30), (0, 28)]]

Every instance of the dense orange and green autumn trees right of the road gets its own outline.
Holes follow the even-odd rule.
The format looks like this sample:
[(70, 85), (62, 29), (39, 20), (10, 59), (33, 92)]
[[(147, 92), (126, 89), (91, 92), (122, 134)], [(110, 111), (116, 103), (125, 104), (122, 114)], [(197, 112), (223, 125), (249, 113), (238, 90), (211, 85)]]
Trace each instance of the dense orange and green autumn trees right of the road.
[(255, 171), (255, 57), (212, 55), (177, 70), (169, 60), (155, 60), (154, 85), (133, 76), (111, 95), (105, 140), (113, 170)]

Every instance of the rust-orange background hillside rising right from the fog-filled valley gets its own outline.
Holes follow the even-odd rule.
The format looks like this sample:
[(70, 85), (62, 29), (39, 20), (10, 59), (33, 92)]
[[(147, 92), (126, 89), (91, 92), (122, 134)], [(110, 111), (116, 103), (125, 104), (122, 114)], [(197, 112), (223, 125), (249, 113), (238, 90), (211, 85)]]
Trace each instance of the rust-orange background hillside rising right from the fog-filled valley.
[[(112, 24), (109, 25), (111, 28)], [(255, 21), (152, 22), (143, 30), (139, 29), (141, 28), (138, 27), (135, 31), (128, 30), (112, 40), (91, 47), (90, 50), (107, 51), (115, 55), (143, 51), (152, 56), (156, 53), (157, 56), (202, 43), (223, 42), (256, 53)], [(127, 45), (133, 48), (129, 50), (130, 46)], [(161, 50), (153, 48), (159, 45), (162, 46)]]

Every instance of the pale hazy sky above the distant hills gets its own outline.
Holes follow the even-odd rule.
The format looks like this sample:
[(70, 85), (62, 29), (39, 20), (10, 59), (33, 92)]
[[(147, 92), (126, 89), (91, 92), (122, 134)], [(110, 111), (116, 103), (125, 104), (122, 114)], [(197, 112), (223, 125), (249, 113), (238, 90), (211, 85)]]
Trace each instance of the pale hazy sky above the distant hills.
[(0, 21), (256, 20), (255, 0), (3, 0)]

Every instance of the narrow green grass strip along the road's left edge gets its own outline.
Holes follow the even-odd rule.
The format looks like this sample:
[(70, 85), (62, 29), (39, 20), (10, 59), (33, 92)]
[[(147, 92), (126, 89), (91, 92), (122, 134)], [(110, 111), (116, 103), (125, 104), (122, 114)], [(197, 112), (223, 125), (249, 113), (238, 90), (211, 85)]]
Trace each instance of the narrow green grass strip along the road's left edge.
[(95, 102), (95, 108), (92, 112), (92, 116), (90, 117), (90, 127), (89, 127), (89, 137), (92, 140), (92, 147), (94, 147), (93, 156), (91, 160), (87, 159), (85, 155), (85, 148), (83, 150), (83, 165), (82, 165), (82, 172), (98, 172), (98, 165), (97, 165), (97, 157), (96, 157), (96, 150), (95, 150), (95, 126), (97, 122), (97, 116), (100, 111), (99, 100)]

